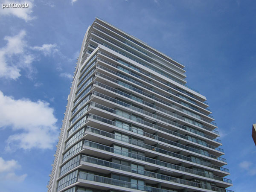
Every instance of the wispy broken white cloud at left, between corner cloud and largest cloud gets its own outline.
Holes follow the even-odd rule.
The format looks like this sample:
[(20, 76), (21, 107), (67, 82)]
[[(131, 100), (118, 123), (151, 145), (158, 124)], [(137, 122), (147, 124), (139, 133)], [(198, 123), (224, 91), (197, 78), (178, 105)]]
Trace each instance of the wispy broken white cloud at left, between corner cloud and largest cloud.
[(51, 53), (58, 52), (56, 44), (31, 47), (25, 39), (26, 31), (24, 30), (15, 36), (4, 38), (7, 43), (6, 46), (0, 48), (0, 78), (16, 80), (21, 76), (20, 71), (23, 69), (26, 70), (27, 77), (32, 79), (32, 75), (37, 72), (32, 63), (39, 60), (39, 54), (49, 56)]

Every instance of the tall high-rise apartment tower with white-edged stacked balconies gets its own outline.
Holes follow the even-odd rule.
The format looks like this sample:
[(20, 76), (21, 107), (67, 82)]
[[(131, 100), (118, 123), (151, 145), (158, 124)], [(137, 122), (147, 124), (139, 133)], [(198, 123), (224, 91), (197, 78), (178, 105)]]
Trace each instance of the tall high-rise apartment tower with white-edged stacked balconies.
[(232, 192), (184, 66), (96, 18), (84, 36), (48, 192)]

